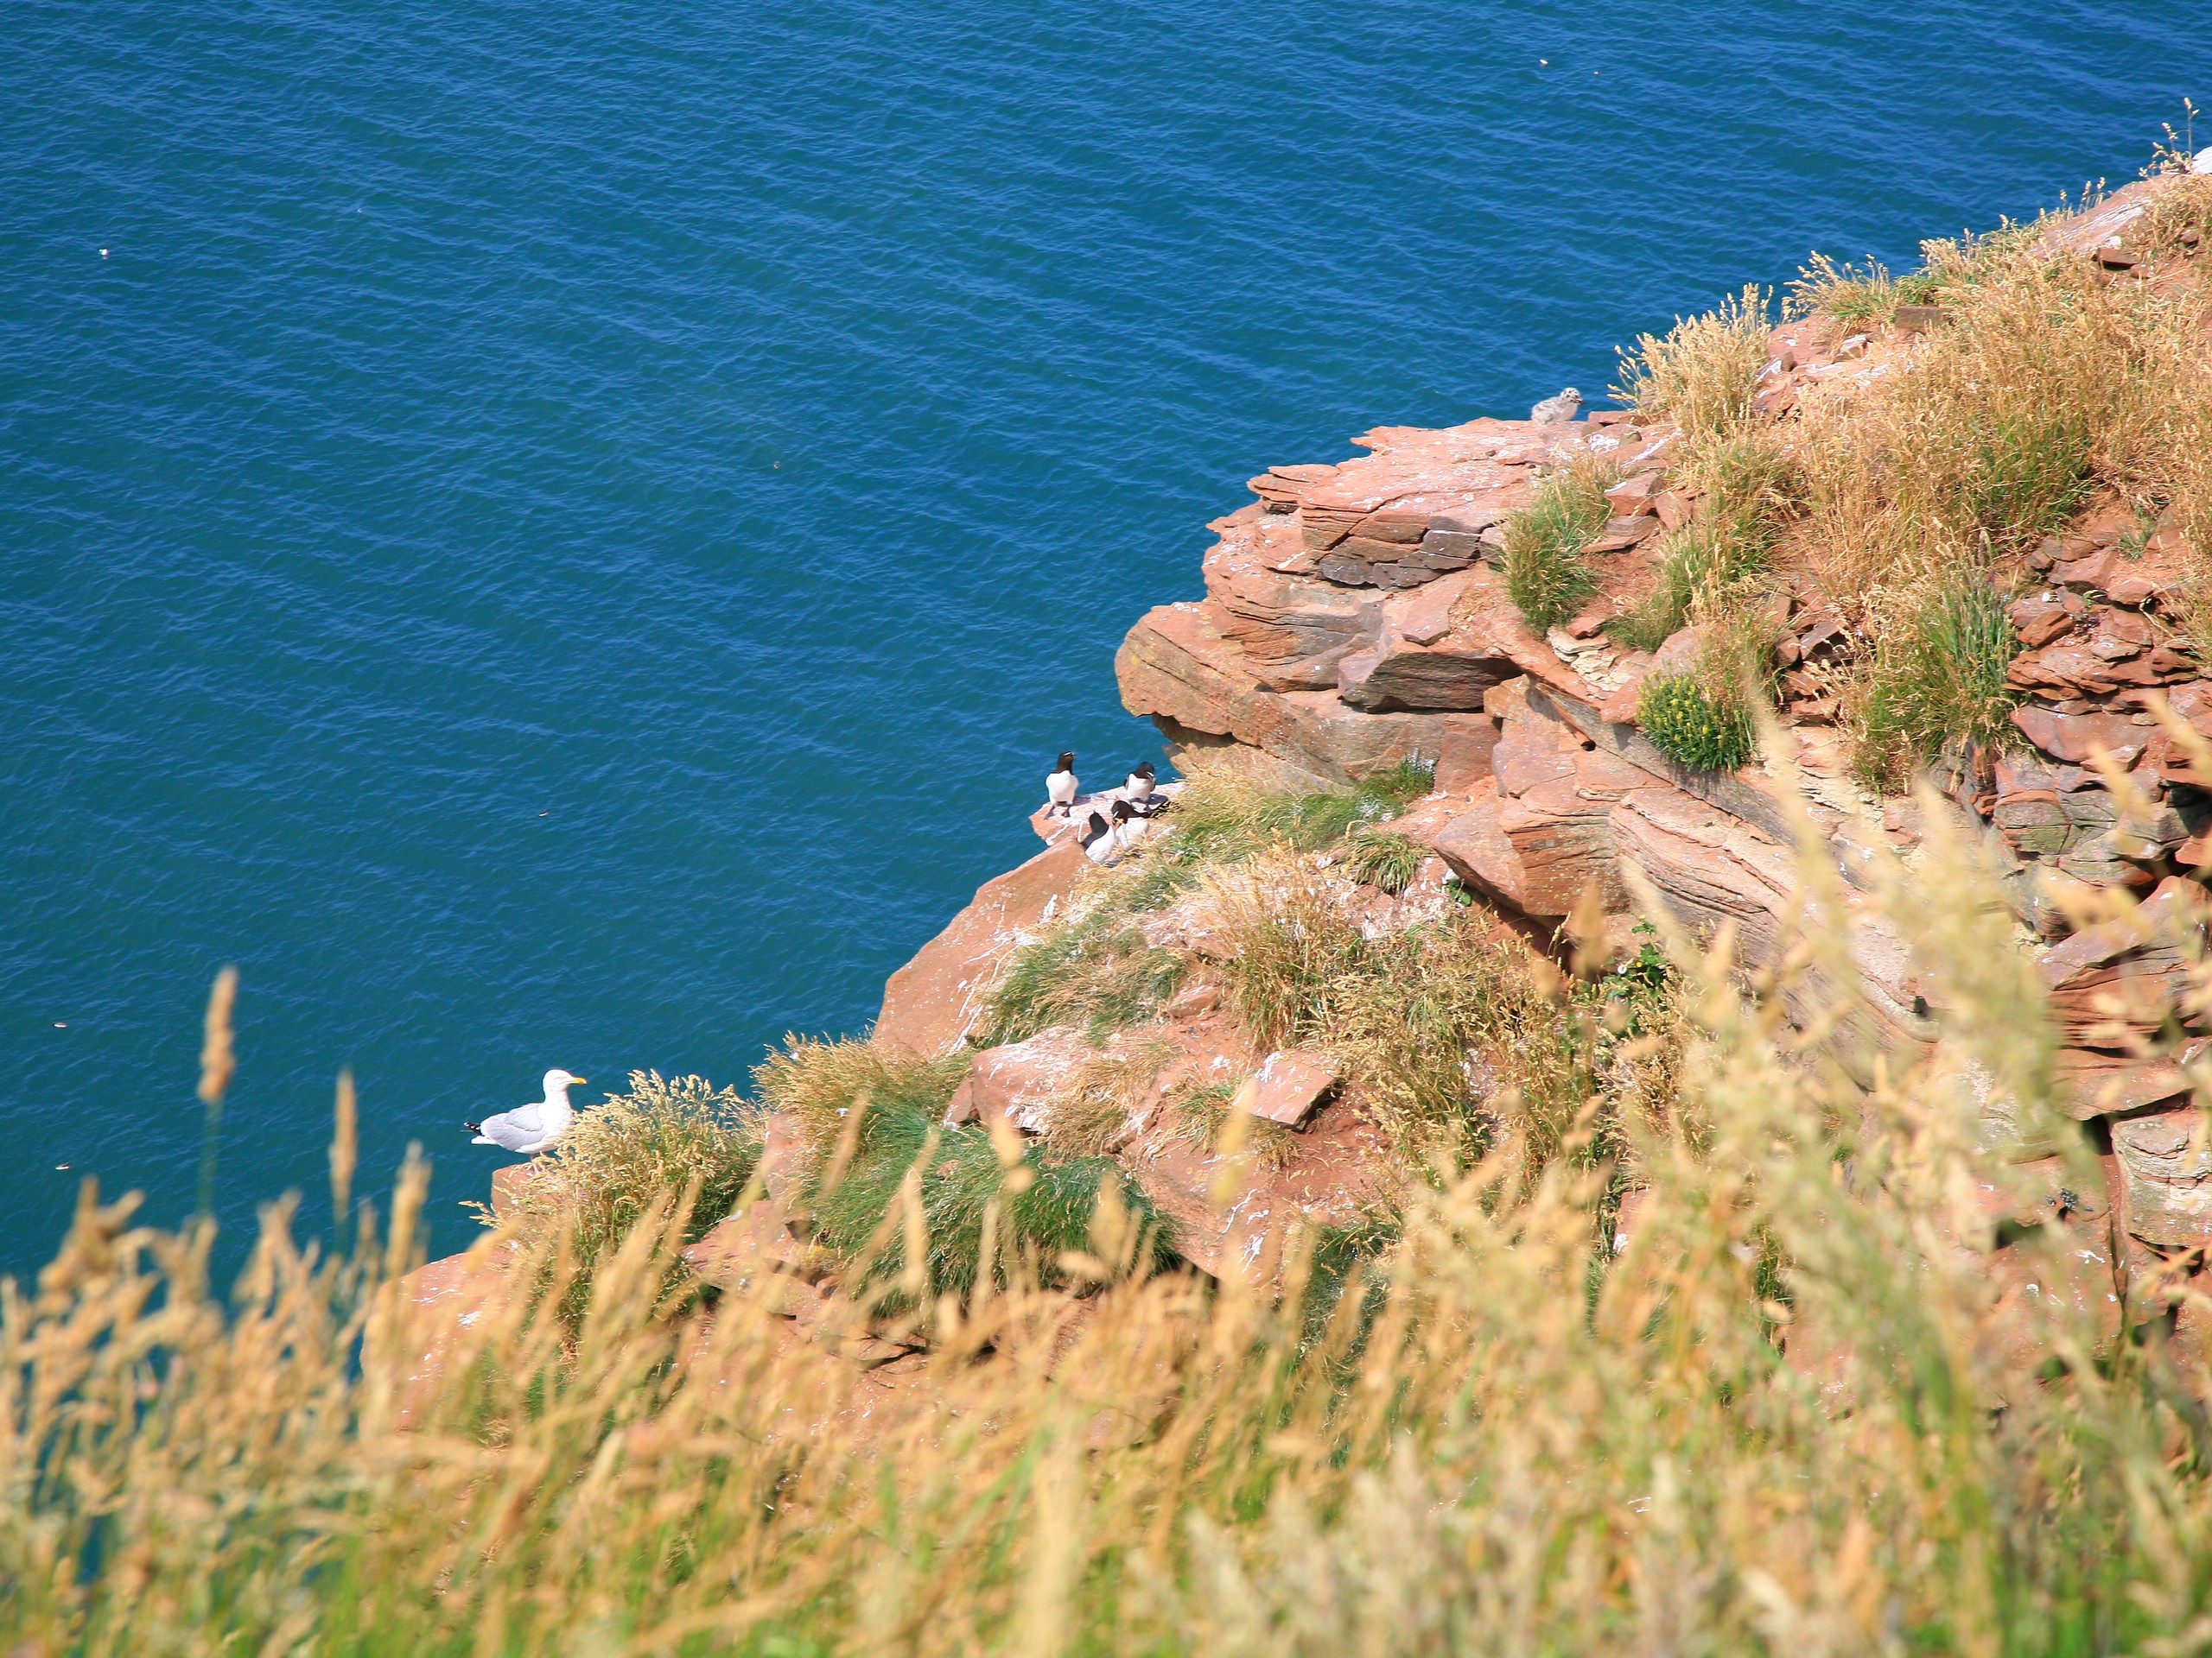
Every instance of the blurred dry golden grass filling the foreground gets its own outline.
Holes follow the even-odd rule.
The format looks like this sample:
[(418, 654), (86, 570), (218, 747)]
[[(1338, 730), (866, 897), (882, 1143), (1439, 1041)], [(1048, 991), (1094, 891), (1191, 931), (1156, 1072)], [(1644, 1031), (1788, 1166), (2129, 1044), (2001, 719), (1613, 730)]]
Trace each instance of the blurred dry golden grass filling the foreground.
[(1683, 957), (1705, 1138), (1630, 1127), (1617, 1256), (1575, 1158), (1416, 1192), (1321, 1307), (1296, 1265), (1281, 1302), (1117, 1278), (1102, 1222), (1097, 1293), (980, 1280), (896, 1384), (748, 1295), (666, 1320), (666, 1205), (573, 1337), (493, 1300), (409, 1384), (420, 1165), (343, 1265), (272, 1209), (228, 1300), (204, 1236), (86, 1196), (0, 1304), (0, 1649), (2197, 1651), (2208, 1377), (1993, 1302), (1960, 1074), (2086, 1147), (2015, 1063), (2000, 906), (1938, 875), (1896, 915), (1958, 1012), (1871, 1092)]

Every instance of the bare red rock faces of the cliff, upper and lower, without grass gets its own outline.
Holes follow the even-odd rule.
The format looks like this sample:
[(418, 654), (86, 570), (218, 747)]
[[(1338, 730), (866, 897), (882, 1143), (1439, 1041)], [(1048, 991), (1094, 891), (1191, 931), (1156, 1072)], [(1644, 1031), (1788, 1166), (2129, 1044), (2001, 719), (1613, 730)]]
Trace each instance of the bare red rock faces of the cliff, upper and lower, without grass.
[[(2192, 256), (2177, 248), (2161, 265), (2146, 234), (2177, 188), (2188, 183), (2150, 179), (2046, 223), (2039, 256), (2088, 267), (2097, 292), (2128, 305), (2179, 305)], [(1942, 305), (1893, 303), (1880, 318), (1812, 309), (1761, 329), (1732, 440), (1783, 458), (1820, 442), (1823, 420), (1913, 376), (1947, 327)], [(2088, 1125), (2099, 1152), (2101, 1189), (2084, 1192), (2044, 1145), (2022, 1145), (2031, 1183), (2051, 1187), (2046, 1207), (2088, 1216), (2099, 1238), (2095, 1304), (2117, 1320), (2130, 1271), (2197, 1269), (2212, 1240), (2212, 1200), (2185, 1152), (2205, 1050), (2190, 964), (2212, 864), (2212, 681), (2190, 632), (2201, 553), (2183, 500), (2146, 502), (2139, 480), (2132, 495), (2099, 486), (2084, 462), (2037, 522), (1984, 533), (1975, 579), (2008, 628), (1997, 723), (1938, 732), (1905, 769), (1867, 763), (1865, 699), (1854, 705), (1854, 681), (1880, 650), (1867, 592), (1834, 590), (1818, 557), (1767, 559), (1750, 606), (1772, 652), (1765, 752), (1697, 767), (1661, 749), (1637, 714), (1644, 685), (1694, 668), (1717, 623), (1692, 606), (1663, 639), (1619, 626), (1650, 612), (1681, 537), (1728, 511), (1697, 466), (1697, 431), (1630, 407), (1586, 422), (1383, 427), (1356, 444), (1367, 453), (1256, 475), (1256, 500), (1212, 524), (1206, 597), (1150, 610), (1121, 643), (1124, 703), (1186, 767), (1307, 789), (1429, 767), (1431, 787), (1389, 825), (1433, 853), (1418, 880), (1389, 893), (1336, 875), (1338, 906), (1369, 935), (1436, 920), (1449, 886), (1562, 959), (1551, 942), (1595, 902), (1619, 957), (1639, 902), (1657, 902), (1697, 940), (1725, 928), (1736, 966), (1770, 975), (1801, 933), (1812, 856), (1834, 878), (1825, 902), (1847, 942), (1860, 1063), (1924, 1054), (1951, 997), (1916, 968), (1874, 893), (1909, 880), (1931, 836), (1966, 849), (2013, 909), (2048, 993), (2051, 1101)], [(1551, 480), (1577, 473), (1604, 500), (1579, 546), (1590, 579), (1573, 615), (1533, 626), (1504, 568), (1506, 531)], [(1794, 515), (1809, 515), (1803, 502)], [(927, 1054), (973, 1043), (980, 990), (1071, 902), (1084, 871), (1062, 842), (993, 882), (894, 979), (878, 1037)], [(2117, 893), (2143, 902), (2112, 909)], [(1203, 917), (1188, 906), (1148, 920), (1146, 942), (1208, 957)], [(1783, 999), (1809, 1019), (1840, 990), (1809, 975)], [(1343, 1222), (1387, 1185), (1376, 1169), (1387, 1154), (1352, 1127), (1365, 1121), (1358, 1090), (1338, 1090), (1323, 1059), (1301, 1072), (1305, 1099), (1261, 1110), (1296, 1130), (1281, 1167), (1210, 1211), (1219, 1167), (1164, 1130), (1161, 1101), (1194, 1074), (1248, 1077), (1285, 1059), (1254, 1052), (1214, 1006), (1206, 993), (1166, 1004), (1150, 1039), (1172, 1061), (1130, 1103), (1115, 1147), (1208, 1271), (1221, 1271), (1230, 1234), (1256, 1256), (1285, 1218)], [(1044, 1132), (1086, 1050), (1073, 1028), (982, 1046), (978, 1096)]]

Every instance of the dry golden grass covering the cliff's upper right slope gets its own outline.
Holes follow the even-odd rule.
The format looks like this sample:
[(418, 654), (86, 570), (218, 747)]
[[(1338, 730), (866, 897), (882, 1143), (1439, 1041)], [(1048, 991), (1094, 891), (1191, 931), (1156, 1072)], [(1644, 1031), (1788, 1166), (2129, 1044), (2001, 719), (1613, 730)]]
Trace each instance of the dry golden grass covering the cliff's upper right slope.
[[(2130, 230), (2166, 250), (2154, 281), (2055, 256), (2057, 217), (1924, 243), (1907, 281), (1947, 321), (1785, 429), (1803, 513), (1781, 557), (1874, 646), (1847, 696), (1867, 780), (1900, 787), (1944, 738), (2002, 725), (2013, 641), (1989, 595), (2095, 500), (2168, 513), (2212, 573), (2212, 301), (2174, 252), (2201, 199), (2179, 181)], [(1803, 298), (1865, 301), (1827, 279)], [(2192, 632), (2212, 648), (2212, 621)]]

